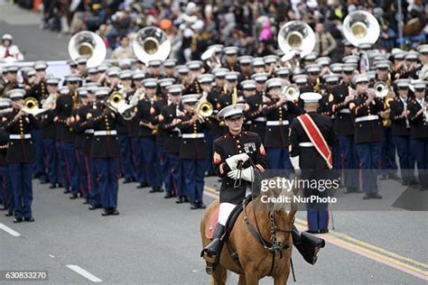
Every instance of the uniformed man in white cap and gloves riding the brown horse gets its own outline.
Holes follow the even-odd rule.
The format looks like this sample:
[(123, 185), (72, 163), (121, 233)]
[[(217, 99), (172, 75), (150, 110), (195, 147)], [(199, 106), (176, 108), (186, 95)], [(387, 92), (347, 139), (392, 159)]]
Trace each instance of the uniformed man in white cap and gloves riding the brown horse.
[[(201, 256), (204, 258), (217, 256), (219, 261), (223, 244), (220, 238), (224, 234), (228, 216), (237, 204), (251, 195), (247, 189), (254, 180), (254, 172), (264, 172), (267, 168), (267, 155), (262, 140), (256, 133), (243, 131), (244, 110), (244, 104), (236, 104), (226, 106), (219, 112), (219, 116), (225, 120), (228, 133), (214, 142), (214, 169), (222, 179), (219, 195), (219, 219), (211, 243), (202, 250)], [(238, 167), (242, 170), (237, 170)], [(241, 182), (245, 183), (235, 187), (237, 179), (241, 179)], [(294, 225), (292, 235), (293, 244), (302, 253), (304, 260), (314, 264), (317, 259), (316, 251), (323, 245), (314, 242), (315, 239), (312, 240), (311, 234), (301, 235)]]

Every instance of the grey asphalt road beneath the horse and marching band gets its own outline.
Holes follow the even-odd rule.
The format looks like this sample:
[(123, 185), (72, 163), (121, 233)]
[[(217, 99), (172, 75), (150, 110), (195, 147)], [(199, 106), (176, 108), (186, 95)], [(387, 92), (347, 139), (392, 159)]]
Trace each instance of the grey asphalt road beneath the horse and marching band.
[[(27, 60), (68, 59), (68, 37), (40, 30), (38, 15), (1, 3), (0, 33), (12, 33)], [(217, 179), (206, 181), (216, 187)], [(297, 283), (426, 283), (427, 212), (392, 206), (406, 193), (422, 201), (426, 195), (398, 188), (395, 181), (381, 183), (382, 201), (368, 201), (364, 211), (334, 211), (336, 230), (323, 235), (327, 245), (315, 266), (293, 253)], [(199, 255), (203, 212), (135, 186), (120, 184), (121, 215), (104, 217), (99, 210), (89, 211), (81, 199), (70, 200), (62, 189), (34, 181), (36, 222), (15, 225), (0, 215), (0, 271), (49, 271), (49, 280), (42, 284), (208, 284)], [(215, 196), (208, 189), (205, 202)], [(358, 195), (339, 198), (349, 205), (361, 203)], [(305, 213), (297, 216), (297, 225), (304, 229)], [(80, 270), (70, 269), (76, 266)], [(232, 274), (231, 280), (236, 283), (237, 276)]]

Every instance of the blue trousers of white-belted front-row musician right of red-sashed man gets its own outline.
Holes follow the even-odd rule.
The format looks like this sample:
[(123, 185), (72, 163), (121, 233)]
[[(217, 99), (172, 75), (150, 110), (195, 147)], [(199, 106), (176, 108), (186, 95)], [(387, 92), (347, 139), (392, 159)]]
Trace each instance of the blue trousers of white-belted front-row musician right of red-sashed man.
[(382, 144), (357, 143), (362, 171), (362, 190), (365, 193), (377, 193), (377, 169), (380, 166)]

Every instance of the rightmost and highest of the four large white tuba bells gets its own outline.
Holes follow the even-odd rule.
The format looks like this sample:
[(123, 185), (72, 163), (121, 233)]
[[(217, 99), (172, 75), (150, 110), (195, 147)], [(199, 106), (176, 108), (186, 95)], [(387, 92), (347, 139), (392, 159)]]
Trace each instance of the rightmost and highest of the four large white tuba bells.
[(358, 10), (345, 17), (343, 34), (355, 47), (364, 43), (374, 44), (379, 38), (380, 26), (374, 15)]

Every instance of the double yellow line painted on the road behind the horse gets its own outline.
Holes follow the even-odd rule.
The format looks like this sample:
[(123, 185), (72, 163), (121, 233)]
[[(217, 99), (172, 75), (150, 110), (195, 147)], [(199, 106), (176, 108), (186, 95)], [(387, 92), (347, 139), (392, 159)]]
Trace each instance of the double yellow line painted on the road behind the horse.
[[(219, 192), (215, 188), (205, 187), (207, 194), (212, 198), (219, 198)], [(306, 222), (300, 218), (295, 219), (296, 225), (300, 230), (305, 230)], [(414, 275), (417, 278), (428, 280), (428, 271), (417, 268), (411, 264), (413, 263), (416, 266), (428, 268), (428, 264), (424, 262), (414, 261), (411, 258), (405, 257), (403, 255), (389, 252), (383, 248), (380, 248), (373, 244), (368, 244), (363, 241), (360, 241), (356, 238), (349, 236), (348, 234), (341, 234), (336, 231), (330, 231), (329, 234), (322, 234), (322, 238), (330, 244), (334, 244), (343, 249), (349, 250), (350, 252), (357, 253), (364, 257), (367, 257), (371, 260), (381, 262), (390, 267), (393, 267), (399, 271), (404, 271), (408, 274)], [(401, 260), (401, 261), (400, 261)], [(405, 263), (407, 262), (407, 263)]]

